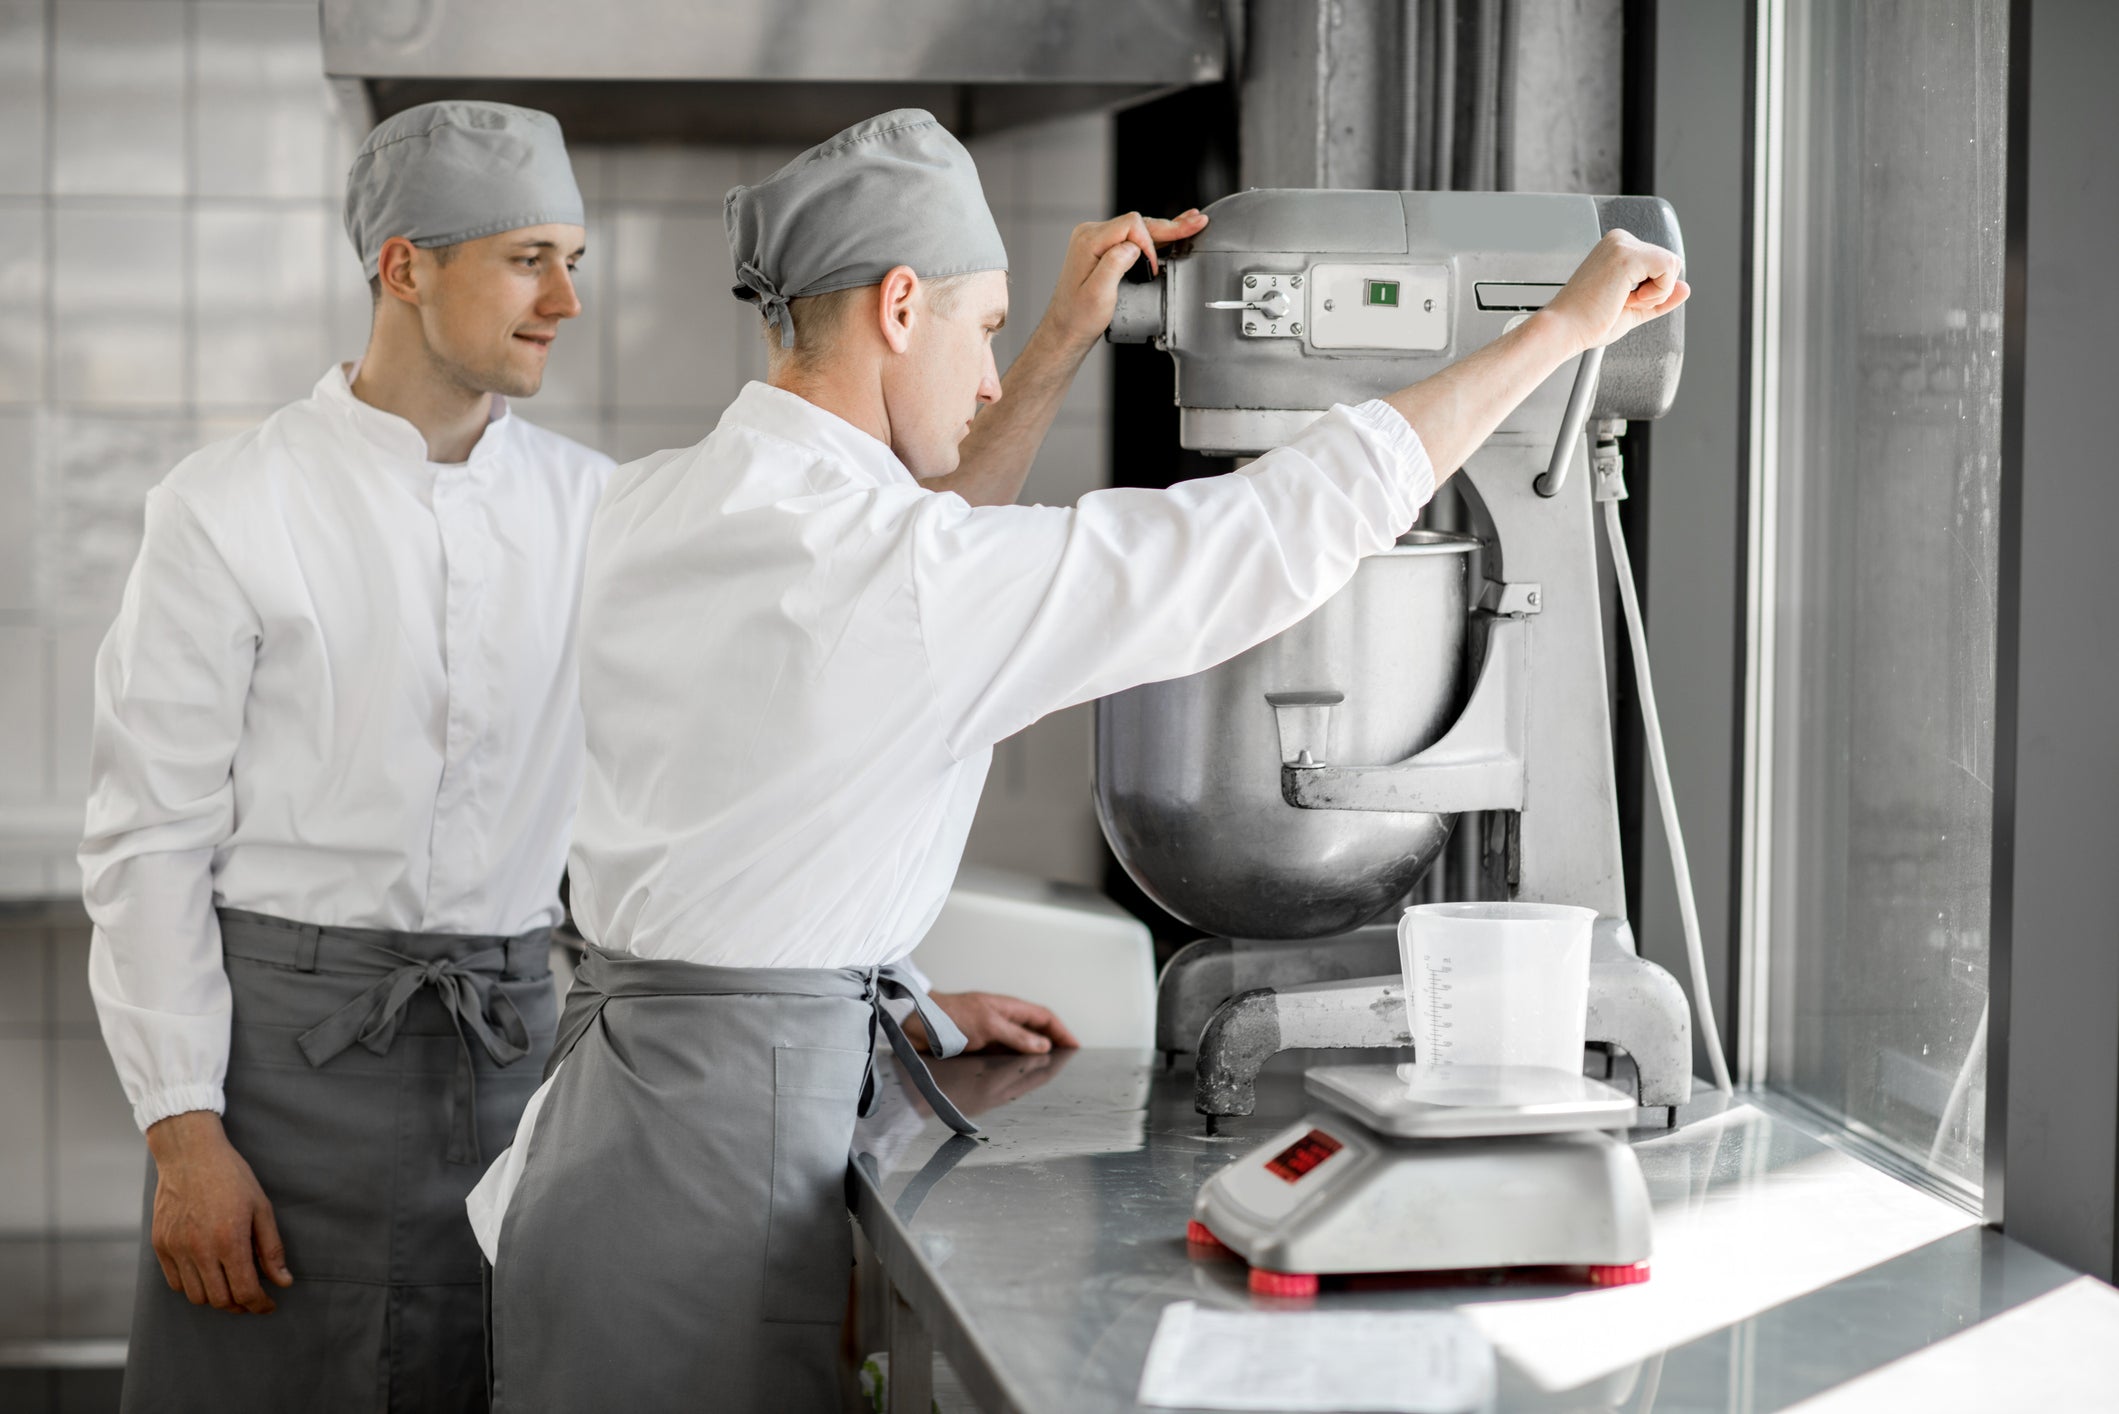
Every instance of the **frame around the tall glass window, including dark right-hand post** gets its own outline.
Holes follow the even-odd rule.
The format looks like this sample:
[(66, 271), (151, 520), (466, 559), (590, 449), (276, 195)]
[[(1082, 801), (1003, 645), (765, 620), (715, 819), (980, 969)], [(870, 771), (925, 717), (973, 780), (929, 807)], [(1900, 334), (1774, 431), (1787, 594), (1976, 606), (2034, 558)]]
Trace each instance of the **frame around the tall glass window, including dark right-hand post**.
[[(1744, 312), (1744, 632), (1735, 750), (1731, 977), (1738, 1083), (1771, 1104), (1774, 689), (1780, 566), (1780, 411), (1786, 189), (1784, 0), (1748, 2), (1750, 98)], [(2096, 280), (2119, 229), (2119, 167), (2070, 144), (2119, 131), (2119, 8), (2013, 0), (2009, 8), (2002, 301), (2000, 555), (1988, 1113), (1979, 1210), (1988, 1225), (2096, 1276), (2119, 1272), (2119, 464), (2100, 418), (2119, 290)], [(1682, 210), (1682, 208), (1680, 208)], [(2104, 532), (2108, 536), (2108, 532)], [(2106, 632), (2098, 632), (2098, 628)], [(2100, 784), (2104, 786), (2100, 791)], [(2104, 867), (2100, 869), (2098, 863)], [(1810, 1109), (1812, 1117), (1822, 1117)], [(1858, 1124), (1824, 1117), (1877, 1166), (1964, 1202)]]

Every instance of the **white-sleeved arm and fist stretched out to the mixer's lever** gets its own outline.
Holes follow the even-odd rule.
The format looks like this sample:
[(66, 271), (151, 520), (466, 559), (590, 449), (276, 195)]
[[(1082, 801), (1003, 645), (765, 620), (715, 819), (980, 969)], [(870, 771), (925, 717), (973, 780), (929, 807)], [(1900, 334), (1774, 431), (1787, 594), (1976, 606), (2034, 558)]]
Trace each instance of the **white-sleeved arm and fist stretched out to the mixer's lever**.
[(1210, 668), (1339, 591), (1570, 356), (1676, 310), (1672, 252), (1604, 237), (1553, 303), (1388, 399), (1326, 413), (1244, 471), (1072, 509), (922, 507), (913, 575), (949, 750)]

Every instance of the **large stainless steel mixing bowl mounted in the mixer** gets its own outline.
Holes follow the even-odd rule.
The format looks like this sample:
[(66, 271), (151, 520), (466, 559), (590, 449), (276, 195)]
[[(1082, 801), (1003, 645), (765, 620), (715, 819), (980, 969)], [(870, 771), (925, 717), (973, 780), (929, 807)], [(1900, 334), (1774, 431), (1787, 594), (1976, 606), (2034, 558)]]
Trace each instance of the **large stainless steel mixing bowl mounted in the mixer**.
[(1411, 532), (1295, 628), (1096, 704), (1096, 816), (1134, 882), (1223, 937), (1326, 937), (1403, 899), (1456, 816), (1297, 810), (1267, 693), (1339, 691), (1326, 759), (1384, 765), (1464, 704), (1464, 536)]

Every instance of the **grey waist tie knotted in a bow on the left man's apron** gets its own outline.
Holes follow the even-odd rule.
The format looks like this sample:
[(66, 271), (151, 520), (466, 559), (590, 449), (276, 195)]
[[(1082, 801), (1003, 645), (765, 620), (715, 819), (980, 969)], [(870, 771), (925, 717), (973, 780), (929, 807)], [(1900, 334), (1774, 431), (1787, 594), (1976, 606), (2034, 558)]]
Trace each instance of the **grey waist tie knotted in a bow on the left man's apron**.
[[(229, 956), (256, 956), (259, 960), (278, 962), (280, 958), (271, 952), (256, 952), (244, 945), (248, 939), (233, 937), (246, 922), (252, 920), (233, 914), (233, 909), (222, 912), (222, 950)], [(278, 924), (280, 920), (261, 918), (256, 922)], [(420, 988), (434, 988), (443, 1011), (449, 1013), (449, 1024), (456, 1028), (456, 1075), (449, 1079), (449, 1090), (443, 1096), (443, 1119), (449, 1130), (447, 1160), (451, 1164), (481, 1162), (479, 1071), (470, 1056), (470, 1041), (477, 1039), (496, 1066), (515, 1064), (530, 1054), (530, 1026), (523, 1022), (521, 1011), (515, 1009), (515, 1001), (506, 992), (496, 992), (494, 984), (513, 971), (511, 950), (519, 950), (523, 941), (542, 945), (545, 935), (496, 939), (492, 948), (453, 958), (424, 960), (373, 941), (373, 937), (358, 937), (352, 929), (292, 924), (292, 931), (307, 935), (301, 941), (307, 962), (305, 971), (381, 973), (375, 986), (297, 1037), (295, 1043), (301, 1047), (303, 1058), (316, 1068), (328, 1064), (356, 1041), (377, 1056), (388, 1056), (413, 994)], [(309, 952), (318, 937), (333, 943), (328, 960), (320, 960)]]

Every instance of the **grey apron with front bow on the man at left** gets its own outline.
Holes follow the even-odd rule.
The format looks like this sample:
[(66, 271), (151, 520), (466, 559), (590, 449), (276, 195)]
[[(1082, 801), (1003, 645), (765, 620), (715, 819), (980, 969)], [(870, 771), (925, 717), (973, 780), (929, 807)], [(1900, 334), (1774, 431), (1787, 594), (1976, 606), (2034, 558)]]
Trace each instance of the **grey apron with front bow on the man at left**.
[[(464, 1196), (551, 1049), (551, 931), (388, 933), (220, 912), (227, 1126), (295, 1285), (267, 1316), (170, 1291), (142, 1227), (123, 1408), (284, 1414), (485, 1408)], [(155, 1164), (146, 1217), (155, 1213)]]

